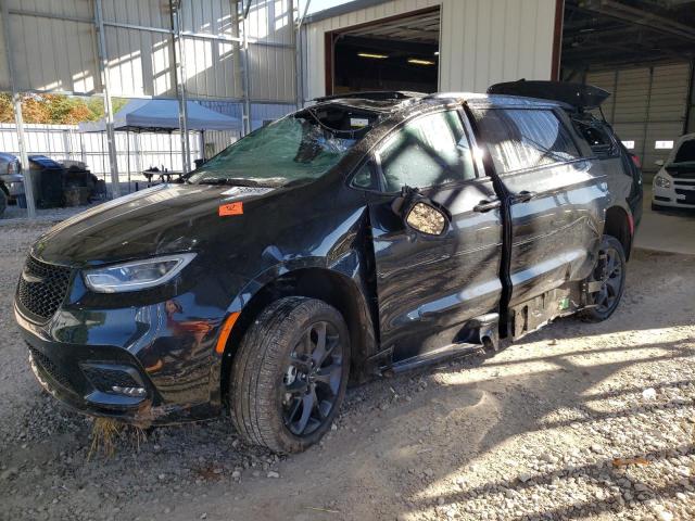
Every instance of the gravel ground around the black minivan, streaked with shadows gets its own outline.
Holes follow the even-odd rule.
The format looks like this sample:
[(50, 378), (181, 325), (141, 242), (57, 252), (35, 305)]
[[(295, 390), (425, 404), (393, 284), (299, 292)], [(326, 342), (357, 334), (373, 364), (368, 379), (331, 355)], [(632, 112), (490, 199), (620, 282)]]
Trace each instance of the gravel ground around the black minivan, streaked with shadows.
[(228, 419), (127, 432), (43, 393), (12, 316), (47, 224), (0, 226), (0, 519), (695, 519), (695, 257), (635, 252), (621, 308), (352, 389), (289, 458)]

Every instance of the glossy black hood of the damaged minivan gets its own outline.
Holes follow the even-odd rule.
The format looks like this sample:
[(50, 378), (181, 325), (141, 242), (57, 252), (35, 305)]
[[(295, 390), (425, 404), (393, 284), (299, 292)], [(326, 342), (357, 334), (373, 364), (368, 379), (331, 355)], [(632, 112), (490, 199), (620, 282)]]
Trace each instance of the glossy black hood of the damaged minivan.
[[(280, 192), (288, 190), (161, 185), (61, 223), (31, 253), (49, 263), (79, 266), (204, 249), (240, 232), (249, 214)], [(233, 202), (242, 203), (243, 214), (220, 216), (220, 205)]]

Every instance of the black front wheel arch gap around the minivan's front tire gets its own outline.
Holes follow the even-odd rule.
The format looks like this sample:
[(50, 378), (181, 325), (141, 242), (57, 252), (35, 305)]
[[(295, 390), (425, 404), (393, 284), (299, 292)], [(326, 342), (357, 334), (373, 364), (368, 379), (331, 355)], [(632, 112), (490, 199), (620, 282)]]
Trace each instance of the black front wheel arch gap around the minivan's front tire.
[(350, 378), (358, 381), (366, 377), (365, 360), (376, 350), (369, 303), (365, 302), (356, 284), (345, 276), (323, 268), (298, 269), (263, 287), (241, 312), (227, 341), (223, 358), (220, 374), (223, 401), (227, 401), (231, 363), (249, 326), (271, 302), (285, 296), (318, 298), (338, 309), (350, 330), (352, 346)]

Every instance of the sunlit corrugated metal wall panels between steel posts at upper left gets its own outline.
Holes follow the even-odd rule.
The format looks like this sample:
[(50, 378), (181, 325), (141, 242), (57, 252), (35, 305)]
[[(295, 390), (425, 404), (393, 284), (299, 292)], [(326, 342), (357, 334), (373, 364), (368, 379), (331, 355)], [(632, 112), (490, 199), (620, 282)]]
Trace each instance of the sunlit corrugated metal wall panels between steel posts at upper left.
[[(102, 92), (94, 0), (4, 1), (18, 90)], [(169, 2), (101, 1), (112, 96), (175, 97)], [(242, 98), (241, 63), (232, 40), (243, 31), (233, 23), (237, 3), (181, 0), (185, 79), (191, 99)], [(293, 9), (292, 0), (253, 0), (247, 22), (252, 101), (295, 100)], [(0, 89), (9, 90), (4, 39), (0, 42)]]

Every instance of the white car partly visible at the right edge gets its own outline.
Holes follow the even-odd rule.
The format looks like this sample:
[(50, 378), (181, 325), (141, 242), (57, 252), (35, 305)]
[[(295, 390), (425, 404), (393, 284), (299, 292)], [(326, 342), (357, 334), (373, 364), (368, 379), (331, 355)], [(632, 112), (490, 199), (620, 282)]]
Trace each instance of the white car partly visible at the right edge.
[(652, 209), (695, 208), (695, 134), (681, 137), (666, 162), (656, 162)]

